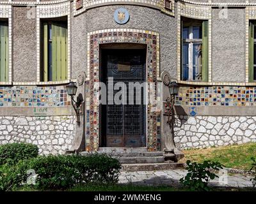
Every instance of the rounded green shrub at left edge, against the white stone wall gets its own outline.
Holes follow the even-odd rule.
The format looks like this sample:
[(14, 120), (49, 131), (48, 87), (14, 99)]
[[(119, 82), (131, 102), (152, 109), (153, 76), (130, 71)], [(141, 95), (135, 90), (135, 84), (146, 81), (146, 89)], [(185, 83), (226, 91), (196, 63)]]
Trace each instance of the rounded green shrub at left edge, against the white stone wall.
[(31, 143), (8, 143), (0, 145), (0, 165), (15, 164), (22, 159), (38, 156), (38, 147)]

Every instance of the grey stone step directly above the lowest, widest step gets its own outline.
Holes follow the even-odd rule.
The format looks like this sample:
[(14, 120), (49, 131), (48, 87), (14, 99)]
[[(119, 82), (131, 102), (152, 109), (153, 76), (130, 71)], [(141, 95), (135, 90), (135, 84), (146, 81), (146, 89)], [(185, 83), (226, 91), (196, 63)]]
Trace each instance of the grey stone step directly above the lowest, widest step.
[(164, 157), (116, 157), (121, 164), (163, 163)]

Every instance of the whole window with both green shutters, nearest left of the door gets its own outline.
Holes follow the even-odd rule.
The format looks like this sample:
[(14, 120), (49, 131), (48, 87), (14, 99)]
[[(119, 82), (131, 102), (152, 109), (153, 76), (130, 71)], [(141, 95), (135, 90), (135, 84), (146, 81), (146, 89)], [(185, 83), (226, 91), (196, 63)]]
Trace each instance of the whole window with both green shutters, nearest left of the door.
[(67, 22), (42, 23), (43, 81), (67, 80)]

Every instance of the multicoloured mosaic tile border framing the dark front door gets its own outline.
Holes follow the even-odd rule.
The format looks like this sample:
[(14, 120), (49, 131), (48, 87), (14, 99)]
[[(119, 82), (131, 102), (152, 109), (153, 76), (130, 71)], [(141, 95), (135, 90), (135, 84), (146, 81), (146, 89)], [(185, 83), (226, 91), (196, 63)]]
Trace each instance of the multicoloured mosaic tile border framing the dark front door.
[[(159, 80), (159, 34), (138, 29), (106, 29), (87, 34), (87, 78), (86, 78), (86, 149), (99, 148), (99, 51), (104, 43), (142, 43), (147, 45), (147, 81), (155, 83), (155, 89), (148, 89), (149, 95), (157, 99), (157, 81)], [(147, 106), (147, 148), (157, 150), (157, 112), (154, 105)]]

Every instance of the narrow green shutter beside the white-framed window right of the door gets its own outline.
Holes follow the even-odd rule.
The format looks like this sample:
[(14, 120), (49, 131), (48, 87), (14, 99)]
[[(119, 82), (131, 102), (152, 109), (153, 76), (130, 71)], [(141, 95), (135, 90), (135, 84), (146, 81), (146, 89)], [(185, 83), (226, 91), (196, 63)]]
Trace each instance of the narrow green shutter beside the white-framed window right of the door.
[(208, 82), (208, 58), (209, 58), (209, 25), (208, 20), (205, 20), (202, 24), (202, 81)]

